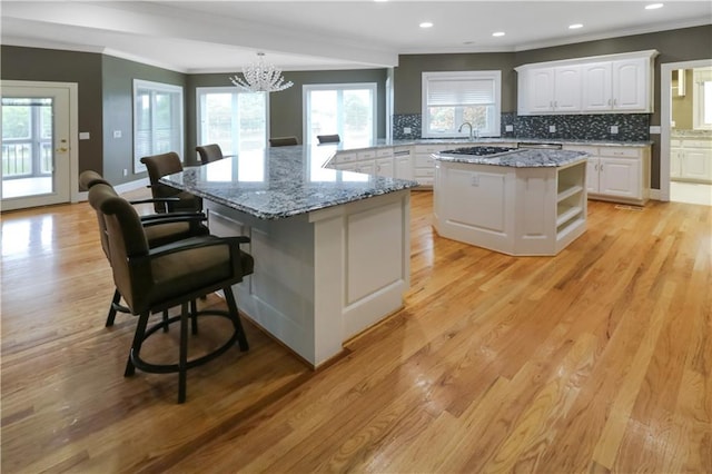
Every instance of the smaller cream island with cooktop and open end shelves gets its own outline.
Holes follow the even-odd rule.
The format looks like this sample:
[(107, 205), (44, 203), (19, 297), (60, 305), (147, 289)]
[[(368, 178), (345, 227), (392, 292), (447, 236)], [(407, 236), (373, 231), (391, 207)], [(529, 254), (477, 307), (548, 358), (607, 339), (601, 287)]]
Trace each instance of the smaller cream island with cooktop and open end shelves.
[(442, 237), (544, 256), (558, 254), (586, 229), (585, 152), (446, 150), (433, 159), (433, 224)]

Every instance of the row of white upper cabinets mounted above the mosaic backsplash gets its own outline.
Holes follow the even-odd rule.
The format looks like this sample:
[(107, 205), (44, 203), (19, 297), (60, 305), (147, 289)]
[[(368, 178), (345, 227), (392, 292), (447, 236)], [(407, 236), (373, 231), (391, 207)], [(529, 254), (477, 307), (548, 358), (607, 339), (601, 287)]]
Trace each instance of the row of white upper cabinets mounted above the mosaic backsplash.
[(520, 66), (518, 115), (652, 112), (656, 55), (651, 50)]

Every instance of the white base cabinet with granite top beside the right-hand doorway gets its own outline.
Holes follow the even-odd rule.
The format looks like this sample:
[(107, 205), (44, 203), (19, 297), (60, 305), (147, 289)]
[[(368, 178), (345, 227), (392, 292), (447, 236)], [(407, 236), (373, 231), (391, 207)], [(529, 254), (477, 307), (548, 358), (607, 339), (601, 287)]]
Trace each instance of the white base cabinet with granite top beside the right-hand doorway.
[(564, 149), (589, 154), (589, 197), (636, 205), (649, 199), (650, 147), (564, 146)]

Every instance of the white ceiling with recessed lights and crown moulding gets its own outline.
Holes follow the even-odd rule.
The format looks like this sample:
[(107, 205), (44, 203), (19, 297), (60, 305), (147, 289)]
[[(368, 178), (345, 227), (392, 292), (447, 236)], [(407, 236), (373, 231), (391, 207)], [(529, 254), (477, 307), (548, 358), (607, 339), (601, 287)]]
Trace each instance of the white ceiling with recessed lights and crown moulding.
[(238, 71), (257, 52), (284, 70), (380, 68), (403, 53), (521, 51), (712, 24), (710, 0), (646, 10), (652, 2), (3, 0), (0, 38), (198, 73)]

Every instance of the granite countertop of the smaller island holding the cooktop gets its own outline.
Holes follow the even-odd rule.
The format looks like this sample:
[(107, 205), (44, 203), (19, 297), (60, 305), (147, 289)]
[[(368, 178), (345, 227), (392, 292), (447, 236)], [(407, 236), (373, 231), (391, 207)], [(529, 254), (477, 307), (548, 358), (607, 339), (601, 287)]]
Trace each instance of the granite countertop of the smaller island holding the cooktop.
[(551, 168), (585, 161), (583, 151), (522, 149), (494, 156), (434, 154), (438, 161), (466, 162), (469, 165), (494, 165), (511, 168)]

